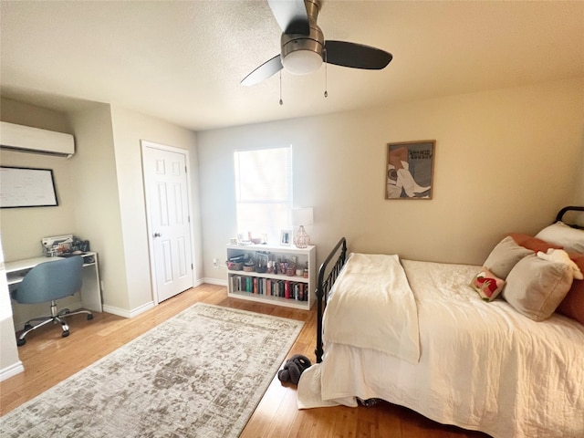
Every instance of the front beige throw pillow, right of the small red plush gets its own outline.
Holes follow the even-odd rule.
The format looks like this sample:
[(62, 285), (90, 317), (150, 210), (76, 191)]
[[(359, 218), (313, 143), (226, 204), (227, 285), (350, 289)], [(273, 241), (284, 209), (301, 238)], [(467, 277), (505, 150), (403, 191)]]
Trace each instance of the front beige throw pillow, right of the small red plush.
[(567, 265), (527, 255), (506, 277), (503, 297), (527, 318), (543, 321), (558, 308), (571, 285), (572, 273)]

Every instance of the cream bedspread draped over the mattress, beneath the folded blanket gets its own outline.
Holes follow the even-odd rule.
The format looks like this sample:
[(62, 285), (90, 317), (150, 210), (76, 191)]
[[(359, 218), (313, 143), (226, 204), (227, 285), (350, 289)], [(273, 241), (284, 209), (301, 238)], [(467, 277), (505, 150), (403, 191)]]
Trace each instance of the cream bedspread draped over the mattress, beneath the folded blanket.
[(584, 436), (582, 325), (560, 315), (535, 322), (503, 300), (482, 301), (467, 286), (479, 266), (401, 263), (420, 361), (328, 342), (323, 362), (301, 376), (299, 408), (380, 398), (495, 437)]

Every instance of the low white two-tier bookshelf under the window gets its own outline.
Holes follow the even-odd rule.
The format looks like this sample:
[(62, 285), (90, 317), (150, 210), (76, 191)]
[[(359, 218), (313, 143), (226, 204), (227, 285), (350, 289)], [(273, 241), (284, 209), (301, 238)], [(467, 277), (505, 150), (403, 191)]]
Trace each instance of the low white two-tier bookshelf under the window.
[(280, 245), (227, 245), (227, 260), (244, 255), (257, 260), (267, 254), (271, 261), (290, 261), (296, 257), (297, 268), (304, 270), (308, 262), (308, 277), (287, 276), (287, 273), (259, 273), (227, 269), (227, 296), (259, 301), (288, 308), (309, 310), (315, 302), (317, 248)]

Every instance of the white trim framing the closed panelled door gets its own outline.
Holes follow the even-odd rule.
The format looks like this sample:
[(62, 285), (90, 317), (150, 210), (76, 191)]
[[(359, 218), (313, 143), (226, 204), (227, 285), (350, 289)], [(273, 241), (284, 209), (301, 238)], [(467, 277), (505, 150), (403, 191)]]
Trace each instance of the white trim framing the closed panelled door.
[(197, 260), (195, 259), (195, 251), (194, 251), (194, 231), (193, 231), (193, 197), (192, 197), (192, 190), (191, 190), (191, 160), (189, 156), (189, 151), (186, 149), (176, 148), (174, 146), (167, 146), (165, 144), (156, 143), (154, 141), (148, 140), (141, 140), (141, 165), (142, 165), (142, 180), (144, 184), (144, 202), (146, 205), (146, 232), (148, 237), (148, 257), (150, 260), (150, 282), (151, 282), (151, 289), (152, 289), (152, 301), (154, 306), (158, 306), (160, 303), (160, 299), (158, 297), (158, 286), (156, 282), (156, 266), (155, 266), (155, 258), (154, 258), (154, 238), (153, 238), (153, 230), (152, 230), (152, 218), (151, 218), (151, 202), (150, 202), (150, 190), (151, 190), (151, 182), (149, 182), (146, 178), (145, 172), (145, 151), (147, 148), (150, 149), (158, 149), (161, 151), (169, 151), (169, 152), (176, 152), (182, 153), (184, 155), (184, 164), (186, 165), (186, 190), (187, 190), (187, 203), (188, 203), (188, 213), (189, 213), (189, 226), (191, 227), (191, 262), (193, 263), (193, 269), (191, 269), (191, 276), (193, 277), (193, 286), (196, 284), (195, 281), (195, 273), (197, 271)]

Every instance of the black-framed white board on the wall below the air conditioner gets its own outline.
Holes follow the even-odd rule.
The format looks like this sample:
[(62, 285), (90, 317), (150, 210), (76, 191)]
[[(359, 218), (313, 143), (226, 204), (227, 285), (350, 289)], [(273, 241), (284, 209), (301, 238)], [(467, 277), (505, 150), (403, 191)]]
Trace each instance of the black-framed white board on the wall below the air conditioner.
[(57, 205), (52, 169), (0, 166), (0, 208)]

